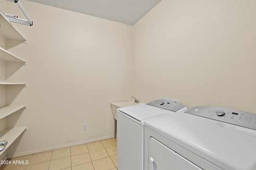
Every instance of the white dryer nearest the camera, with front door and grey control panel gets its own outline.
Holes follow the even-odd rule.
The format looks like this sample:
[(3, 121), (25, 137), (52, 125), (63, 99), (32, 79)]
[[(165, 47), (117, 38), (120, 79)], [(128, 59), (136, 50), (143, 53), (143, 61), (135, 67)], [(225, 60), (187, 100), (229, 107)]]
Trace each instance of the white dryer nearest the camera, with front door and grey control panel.
[(198, 106), (146, 121), (144, 170), (256, 170), (256, 114)]

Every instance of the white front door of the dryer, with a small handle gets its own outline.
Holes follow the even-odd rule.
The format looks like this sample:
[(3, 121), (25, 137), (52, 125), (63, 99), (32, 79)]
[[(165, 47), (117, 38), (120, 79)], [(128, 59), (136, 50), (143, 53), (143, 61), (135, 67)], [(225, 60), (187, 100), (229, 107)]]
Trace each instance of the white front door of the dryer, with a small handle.
[(202, 170), (152, 137), (148, 154), (148, 170)]

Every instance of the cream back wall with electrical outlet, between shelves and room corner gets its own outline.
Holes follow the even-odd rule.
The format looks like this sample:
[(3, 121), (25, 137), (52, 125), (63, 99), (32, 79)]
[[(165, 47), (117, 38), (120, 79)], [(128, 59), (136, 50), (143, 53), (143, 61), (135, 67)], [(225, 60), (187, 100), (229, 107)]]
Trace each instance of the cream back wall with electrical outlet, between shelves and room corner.
[[(6, 3), (6, 13), (25, 18), (17, 4)], [(12, 75), (7, 70), (6, 77), (27, 87), (7, 103), (27, 109), (6, 124), (28, 130), (9, 156), (114, 137), (110, 102), (133, 95), (132, 26), (25, 0), (22, 5), (34, 25), (14, 23), (27, 43), (9, 51), (27, 65)]]

